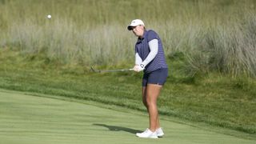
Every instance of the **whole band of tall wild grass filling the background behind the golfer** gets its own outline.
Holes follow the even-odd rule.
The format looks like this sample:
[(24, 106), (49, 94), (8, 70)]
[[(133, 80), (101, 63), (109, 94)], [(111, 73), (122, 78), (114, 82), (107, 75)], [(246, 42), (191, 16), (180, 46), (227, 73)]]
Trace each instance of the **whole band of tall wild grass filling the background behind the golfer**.
[[(166, 55), (186, 55), (190, 74), (255, 76), (253, 0), (0, 1), (0, 46), (62, 64), (134, 63), (131, 19), (162, 38)], [(51, 19), (46, 15), (52, 14)]]

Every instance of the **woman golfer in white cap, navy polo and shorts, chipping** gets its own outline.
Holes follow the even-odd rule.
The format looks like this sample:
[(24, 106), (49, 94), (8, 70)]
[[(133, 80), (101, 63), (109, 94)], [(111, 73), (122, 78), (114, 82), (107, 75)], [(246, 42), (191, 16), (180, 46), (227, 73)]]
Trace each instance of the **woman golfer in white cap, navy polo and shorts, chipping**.
[(157, 99), (168, 75), (162, 41), (154, 30), (146, 30), (140, 19), (133, 20), (127, 29), (132, 30), (138, 37), (135, 44), (134, 71), (144, 71), (142, 102), (150, 117), (150, 127), (136, 135), (140, 138), (162, 137), (164, 133), (159, 123)]

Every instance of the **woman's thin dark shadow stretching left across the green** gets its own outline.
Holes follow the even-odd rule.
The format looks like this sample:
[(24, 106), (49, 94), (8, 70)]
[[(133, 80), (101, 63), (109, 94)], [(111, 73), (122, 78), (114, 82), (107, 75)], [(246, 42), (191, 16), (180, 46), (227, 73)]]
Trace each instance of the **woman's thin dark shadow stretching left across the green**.
[(130, 128), (127, 128), (127, 127), (122, 127), (122, 126), (109, 126), (109, 125), (100, 124), (100, 123), (94, 123), (93, 125), (94, 126), (106, 127), (110, 131), (126, 131), (126, 132), (131, 133), (131, 134), (142, 133), (142, 130), (134, 130), (134, 129), (130, 129)]

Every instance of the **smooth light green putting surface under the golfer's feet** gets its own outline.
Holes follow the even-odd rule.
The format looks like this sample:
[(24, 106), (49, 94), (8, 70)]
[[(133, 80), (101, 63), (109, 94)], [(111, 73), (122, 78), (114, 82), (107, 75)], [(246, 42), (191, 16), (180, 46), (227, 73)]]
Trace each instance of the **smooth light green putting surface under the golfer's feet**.
[(255, 143), (162, 120), (165, 137), (137, 138), (146, 116), (78, 102), (0, 92), (0, 143)]

